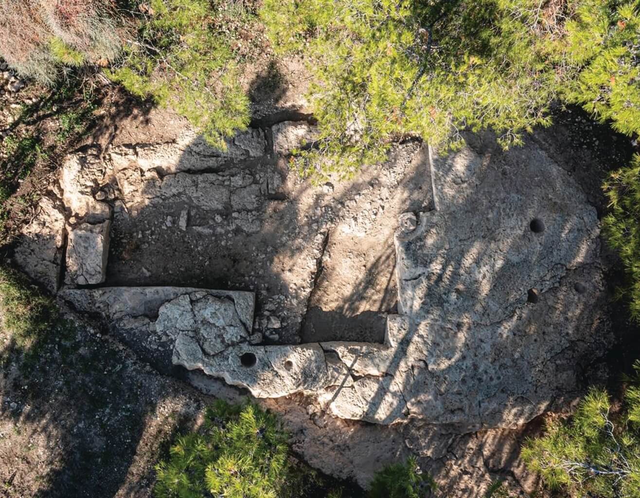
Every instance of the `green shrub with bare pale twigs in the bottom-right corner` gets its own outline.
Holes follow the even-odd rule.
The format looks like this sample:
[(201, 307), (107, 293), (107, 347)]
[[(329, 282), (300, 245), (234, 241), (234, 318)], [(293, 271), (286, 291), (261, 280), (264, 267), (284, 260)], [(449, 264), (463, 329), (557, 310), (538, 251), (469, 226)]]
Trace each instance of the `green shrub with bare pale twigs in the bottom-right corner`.
[[(636, 369), (640, 374), (640, 362)], [(571, 497), (640, 496), (640, 387), (629, 387), (620, 411), (604, 390), (591, 389), (571, 421), (553, 420), (527, 440), (522, 458), (552, 489)]]

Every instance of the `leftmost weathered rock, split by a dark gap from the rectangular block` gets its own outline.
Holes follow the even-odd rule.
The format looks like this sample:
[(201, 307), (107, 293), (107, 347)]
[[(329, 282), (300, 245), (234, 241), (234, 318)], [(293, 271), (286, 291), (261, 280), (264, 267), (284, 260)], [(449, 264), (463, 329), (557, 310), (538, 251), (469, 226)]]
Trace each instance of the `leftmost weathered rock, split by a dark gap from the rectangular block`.
[(65, 240), (65, 216), (43, 197), (35, 218), (22, 230), (13, 257), (17, 265), (51, 293), (58, 290)]

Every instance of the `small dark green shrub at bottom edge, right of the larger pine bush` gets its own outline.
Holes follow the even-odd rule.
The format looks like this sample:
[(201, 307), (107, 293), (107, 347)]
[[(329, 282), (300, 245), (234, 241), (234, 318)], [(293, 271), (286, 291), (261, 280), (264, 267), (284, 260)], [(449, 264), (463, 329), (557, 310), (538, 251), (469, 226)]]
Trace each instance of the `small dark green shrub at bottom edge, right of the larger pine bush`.
[(410, 457), (405, 463), (392, 463), (376, 473), (369, 498), (420, 498), (426, 490), (435, 490), (433, 479), (423, 473), (415, 458)]

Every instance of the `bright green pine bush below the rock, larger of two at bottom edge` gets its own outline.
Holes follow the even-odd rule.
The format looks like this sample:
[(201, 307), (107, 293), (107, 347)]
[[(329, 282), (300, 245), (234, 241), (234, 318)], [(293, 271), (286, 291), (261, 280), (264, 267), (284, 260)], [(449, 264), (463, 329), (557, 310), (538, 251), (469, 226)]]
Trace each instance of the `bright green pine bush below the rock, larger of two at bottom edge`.
[(158, 498), (284, 495), (289, 464), (287, 435), (275, 415), (255, 405), (222, 401), (205, 412), (202, 430), (180, 437), (157, 465)]

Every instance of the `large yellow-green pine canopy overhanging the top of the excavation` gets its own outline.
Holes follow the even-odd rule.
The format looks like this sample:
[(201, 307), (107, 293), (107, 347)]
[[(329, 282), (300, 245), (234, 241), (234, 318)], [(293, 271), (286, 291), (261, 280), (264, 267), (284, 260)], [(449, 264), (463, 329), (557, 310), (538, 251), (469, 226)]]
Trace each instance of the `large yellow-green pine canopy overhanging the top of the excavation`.
[(549, 125), (552, 102), (584, 105), (623, 133), (640, 125), (638, 1), (265, 0), (276, 51), (314, 74), (319, 147), (306, 176), (353, 176), (392, 141), (444, 150), (492, 129), (507, 148)]

